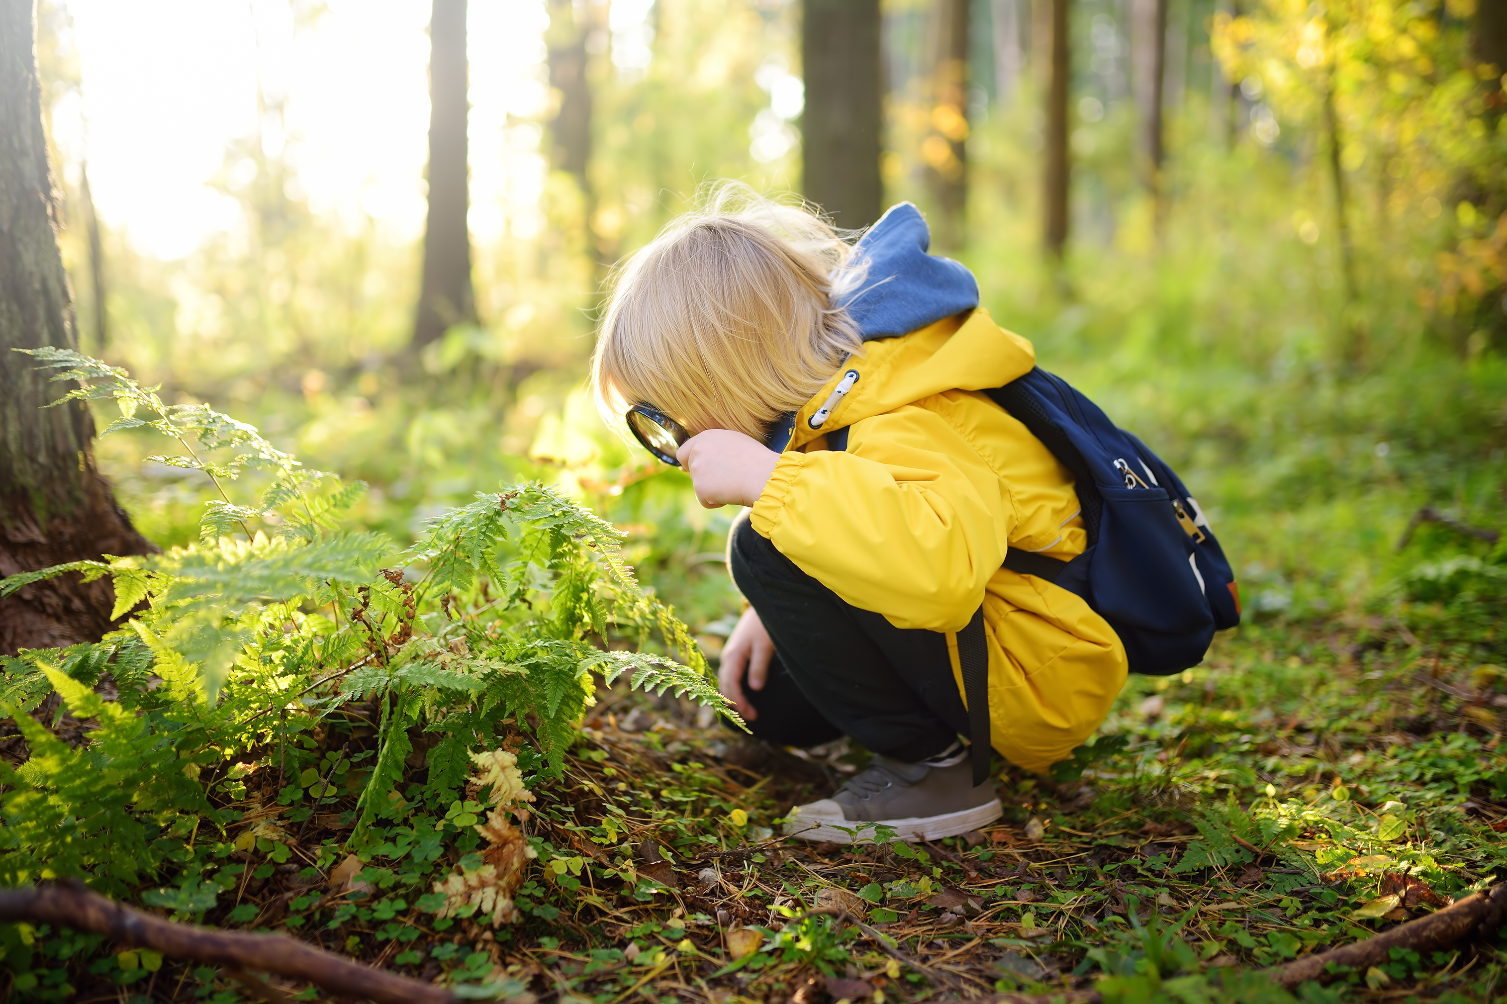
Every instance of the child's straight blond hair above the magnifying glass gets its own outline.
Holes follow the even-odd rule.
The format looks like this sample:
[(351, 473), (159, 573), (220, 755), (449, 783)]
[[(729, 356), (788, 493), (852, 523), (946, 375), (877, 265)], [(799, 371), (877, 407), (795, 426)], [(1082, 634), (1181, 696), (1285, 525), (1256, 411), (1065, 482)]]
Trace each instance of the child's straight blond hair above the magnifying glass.
[(838, 305), (862, 279), (815, 213), (722, 182), (613, 276), (591, 383), (609, 425), (633, 404), (693, 434), (764, 439), (864, 341)]

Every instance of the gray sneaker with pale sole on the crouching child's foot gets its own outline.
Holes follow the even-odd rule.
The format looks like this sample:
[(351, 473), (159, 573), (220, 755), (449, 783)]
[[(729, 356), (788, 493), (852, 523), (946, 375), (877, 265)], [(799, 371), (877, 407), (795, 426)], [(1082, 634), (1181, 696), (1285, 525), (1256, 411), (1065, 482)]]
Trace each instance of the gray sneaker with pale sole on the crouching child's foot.
[(889, 826), (897, 840), (940, 840), (986, 826), (1004, 813), (993, 784), (974, 787), (966, 754), (921, 763), (876, 755), (832, 797), (793, 808), (785, 834), (835, 844), (873, 843), (876, 828)]

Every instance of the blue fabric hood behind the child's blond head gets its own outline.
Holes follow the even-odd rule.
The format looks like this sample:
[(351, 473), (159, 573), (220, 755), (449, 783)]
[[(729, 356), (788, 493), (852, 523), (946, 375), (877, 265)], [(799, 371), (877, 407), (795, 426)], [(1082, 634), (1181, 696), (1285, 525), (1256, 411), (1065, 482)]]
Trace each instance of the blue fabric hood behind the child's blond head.
[(838, 303), (864, 341), (898, 338), (978, 306), (978, 282), (963, 264), (928, 255), (931, 231), (909, 202), (891, 207), (853, 249), (862, 280)]

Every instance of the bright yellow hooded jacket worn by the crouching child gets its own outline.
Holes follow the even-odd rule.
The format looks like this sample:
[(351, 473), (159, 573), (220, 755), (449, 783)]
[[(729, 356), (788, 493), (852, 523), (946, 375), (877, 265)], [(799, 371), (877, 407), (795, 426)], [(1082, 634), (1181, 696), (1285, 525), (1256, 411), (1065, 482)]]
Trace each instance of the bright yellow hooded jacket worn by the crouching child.
[[(1046, 770), (1103, 721), (1126, 653), (1081, 597), (1001, 567), (1008, 547), (1067, 559), (1087, 540), (1071, 473), (980, 392), (1029, 372), (1035, 350), (983, 309), (865, 350), (797, 413), (752, 526), (847, 603), (946, 632), (958, 692), (954, 632), (983, 603), (993, 746)], [(850, 428), (832, 452), (806, 419), (848, 369), (823, 424)]]

